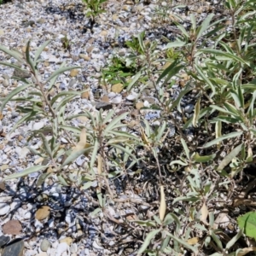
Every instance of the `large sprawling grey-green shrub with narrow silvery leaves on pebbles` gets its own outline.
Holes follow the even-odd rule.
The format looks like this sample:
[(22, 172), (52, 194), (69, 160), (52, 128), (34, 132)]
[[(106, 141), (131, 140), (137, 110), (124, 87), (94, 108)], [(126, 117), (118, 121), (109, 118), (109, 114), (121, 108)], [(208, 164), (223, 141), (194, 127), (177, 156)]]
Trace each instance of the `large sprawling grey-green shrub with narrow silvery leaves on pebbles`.
[[(143, 94), (150, 87), (158, 101), (140, 109), (160, 111), (159, 122), (153, 124), (137, 117), (137, 132), (125, 124), (129, 112), (84, 111), (75, 116), (65, 112), (67, 103), (87, 89), (50, 95), (61, 73), (79, 67), (63, 63), (43, 80), (38, 65), (41, 53), (50, 47), (49, 41), (33, 53), (30, 42), (25, 53), (1, 45), (0, 49), (21, 66), (11, 62), (1, 65), (31, 74), (31, 79), (20, 79), (23, 85), (1, 99), (1, 113), (9, 101), (16, 101), (18, 106), (26, 102), (26, 108), (18, 107), (22, 118), (14, 130), (33, 119), (49, 122), (29, 135), (29, 139), (42, 140), (42, 148), (29, 149), (44, 159), (44, 165), (3, 180), (43, 171), (38, 188), (52, 177), (65, 187), (90, 189), (97, 205), (94, 215), (102, 214), (120, 225), (122, 235), (132, 238), (120, 242), (133, 247), (137, 255), (254, 255), (251, 238), (255, 236), (247, 222), (253, 222), (255, 207), (250, 194), (256, 182), (252, 172), (256, 7), (254, 1), (239, 0), (225, 1), (224, 6), (226, 16), (220, 20), (210, 14), (198, 25), (190, 15), (189, 28), (174, 20), (179, 33), (164, 49), (158, 48), (156, 41), (147, 41), (143, 32), (127, 44), (131, 55), (125, 63), (136, 73), (125, 76), (125, 90), (130, 93), (139, 88)], [(123, 62), (114, 59), (112, 65), (116, 63)], [(110, 86), (106, 74), (101, 79)], [(168, 90), (177, 82), (179, 94), (169, 97)], [(190, 115), (184, 112), (187, 97), (194, 104)], [(88, 119), (85, 127), (71, 125), (78, 116)], [(70, 138), (66, 147), (61, 145), (61, 137)], [(83, 172), (71, 172), (68, 166), (81, 154), (88, 159)], [(125, 186), (131, 186), (143, 201), (119, 196), (113, 183), (121, 176), (126, 179)], [(118, 220), (111, 217), (106, 209), (115, 202), (131, 203), (137, 207), (136, 214)], [(248, 218), (237, 220), (236, 212), (249, 212)]]

